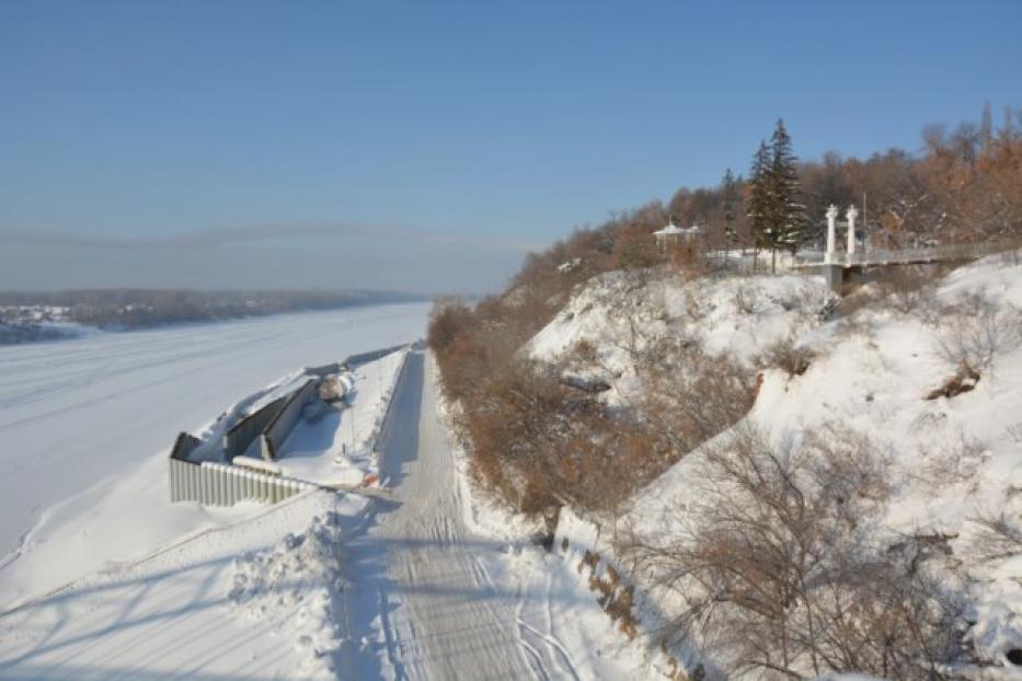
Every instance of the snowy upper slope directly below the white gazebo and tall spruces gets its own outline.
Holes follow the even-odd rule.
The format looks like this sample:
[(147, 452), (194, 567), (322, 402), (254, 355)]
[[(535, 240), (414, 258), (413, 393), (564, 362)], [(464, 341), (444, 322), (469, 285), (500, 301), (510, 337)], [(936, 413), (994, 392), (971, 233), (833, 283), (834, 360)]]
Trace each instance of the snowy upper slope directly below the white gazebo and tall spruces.
[(686, 280), (671, 272), (613, 272), (588, 282), (536, 335), (530, 354), (612, 384), (613, 402), (642, 391), (636, 356), (657, 343), (694, 344), (751, 370), (765, 348), (815, 328), (836, 303), (815, 278)]

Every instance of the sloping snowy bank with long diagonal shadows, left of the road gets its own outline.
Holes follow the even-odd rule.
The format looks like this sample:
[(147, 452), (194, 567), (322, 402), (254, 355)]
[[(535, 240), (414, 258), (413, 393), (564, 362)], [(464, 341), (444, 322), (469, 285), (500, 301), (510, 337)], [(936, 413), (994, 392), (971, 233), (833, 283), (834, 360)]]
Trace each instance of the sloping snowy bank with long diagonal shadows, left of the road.
[(260, 507), (7, 613), (0, 678), (334, 678), (347, 504)]

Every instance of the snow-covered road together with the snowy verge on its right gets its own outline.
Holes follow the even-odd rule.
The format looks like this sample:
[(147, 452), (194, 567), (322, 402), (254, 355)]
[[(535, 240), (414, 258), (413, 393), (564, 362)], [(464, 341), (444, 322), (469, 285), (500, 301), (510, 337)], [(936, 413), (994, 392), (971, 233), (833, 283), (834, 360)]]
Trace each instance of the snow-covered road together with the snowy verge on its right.
[(381, 466), (394, 498), (343, 547), (342, 678), (645, 678), (575, 565), (472, 498), (422, 354), (391, 419)]

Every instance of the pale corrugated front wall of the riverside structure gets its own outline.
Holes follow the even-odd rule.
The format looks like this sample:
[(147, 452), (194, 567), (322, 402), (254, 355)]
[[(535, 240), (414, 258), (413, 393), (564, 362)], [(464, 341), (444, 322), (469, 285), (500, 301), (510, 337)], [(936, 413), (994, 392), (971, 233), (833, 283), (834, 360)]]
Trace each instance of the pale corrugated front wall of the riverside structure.
[(192, 463), (169, 459), (168, 463), (171, 503), (198, 501), (206, 506), (233, 506), (239, 501), (252, 500), (276, 504), (315, 487), (297, 480), (208, 461)]

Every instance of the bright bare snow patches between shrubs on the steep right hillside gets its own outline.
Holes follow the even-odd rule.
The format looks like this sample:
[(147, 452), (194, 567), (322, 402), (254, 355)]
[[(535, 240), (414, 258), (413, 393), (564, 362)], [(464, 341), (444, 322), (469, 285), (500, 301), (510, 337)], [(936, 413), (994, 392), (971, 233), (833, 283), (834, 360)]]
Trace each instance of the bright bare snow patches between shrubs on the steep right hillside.
[[(980, 299), (986, 302), (977, 302)], [(927, 400), (957, 369), (942, 343), (976, 324), (985, 305), (1001, 326), (992, 361), (979, 370), (981, 378), (971, 392)], [(850, 319), (825, 321), (831, 307), (823, 282), (812, 278), (685, 281), (615, 273), (576, 291), (529, 350), (537, 359), (566, 362), (575, 372), (609, 379), (617, 393), (628, 395), (642, 390), (632, 378), (629, 350), (656, 338), (694, 338), (711, 351), (732, 353), (739, 362), (751, 362), (772, 342), (788, 336), (809, 347), (816, 356), (803, 376), (790, 377), (779, 369), (763, 372), (747, 419), (779, 442), (840, 423), (887, 452), (895, 492), (876, 540), (894, 542), (918, 533), (951, 538), (953, 555), (969, 577), (973, 645), (981, 660), (996, 666), (990, 678), (1008, 678), (1013, 669), (1004, 656), (1022, 648), (1022, 563), (1017, 555), (980, 559), (976, 545), (981, 527), (976, 519), (1004, 513), (1018, 522), (1022, 513), (1019, 259), (994, 256), (956, 269), (908, 304), (882, 299)], [(595, 348), (595, 367), (573, 358), (572, 349), (582, 340)], [(615, 394), (608, 400), (613, 402)], [(622, 524), (640, 536), (675, 533), (681, 522), (679, 509), (697, 492), (690, 481), (701, 455), (700, 450), (690, 453), (636, 494)], [(606, 538), (597, 536), (598, 523), (589, 520), (587, 527), (588, 534), (583, 532), (577, 541), (612, 559)], [(653, 584), (646, 576), (639, 586), (653, 590)], [(663, 592), (653, 600), (668, 616), (677, 607)], [(664, 621), (665, 613), (656, 610), (643, 612), (650, 626)], [(701, 653), (711, 668), (722, 661)]]

